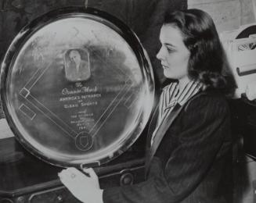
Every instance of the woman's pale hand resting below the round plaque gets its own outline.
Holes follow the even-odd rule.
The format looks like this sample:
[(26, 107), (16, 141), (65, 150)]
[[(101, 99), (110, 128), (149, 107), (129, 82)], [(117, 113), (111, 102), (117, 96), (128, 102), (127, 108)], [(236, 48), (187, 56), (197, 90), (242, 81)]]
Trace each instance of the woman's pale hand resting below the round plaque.
[(78, 169), (63, 169), (58, 175), (67, 189), (82, 202), (103, 203), (103, 190), (99, 188), (98, 176), (92, 168), (84, 169), (88, 176)]

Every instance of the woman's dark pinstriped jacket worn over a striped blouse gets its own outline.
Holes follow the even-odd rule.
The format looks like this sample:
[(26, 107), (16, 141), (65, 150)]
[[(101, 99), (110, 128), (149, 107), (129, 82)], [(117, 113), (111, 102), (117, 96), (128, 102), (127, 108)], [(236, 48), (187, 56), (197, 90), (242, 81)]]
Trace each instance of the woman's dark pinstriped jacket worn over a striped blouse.
[(146, 181), (104, 190), (104, 203), (232, 202), (232, 139), (225, 97), (215, 90), (200, 92), (171, 112), (150, 158), (156, 119), (157, 113), (149, 130)]

